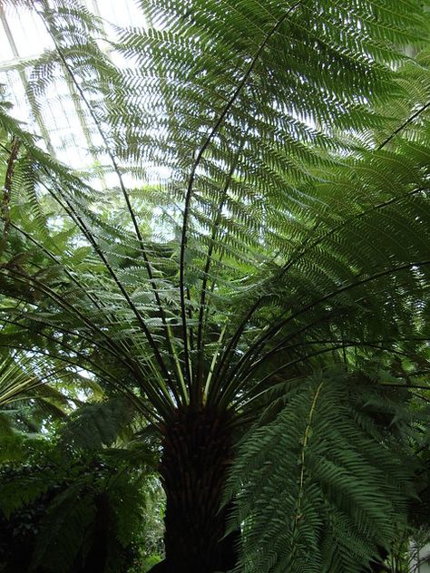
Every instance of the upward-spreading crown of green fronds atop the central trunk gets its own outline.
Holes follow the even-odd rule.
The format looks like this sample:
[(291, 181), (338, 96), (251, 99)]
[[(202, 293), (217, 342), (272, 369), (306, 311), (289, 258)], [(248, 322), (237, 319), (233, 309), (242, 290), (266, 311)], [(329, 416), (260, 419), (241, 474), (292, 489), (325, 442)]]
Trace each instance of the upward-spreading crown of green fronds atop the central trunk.
[(425, 339), (428, 55), (403, 50), (425, 45), (419, 3), (141, 4), (147, 27), (112, 53), (78, 3), (35, 5), (54, 50), (24, 65), (28, 91), (42, 105), (67, 80), (97, 166), (68, 170), (2, 107), (5, 344), (168, 418)]

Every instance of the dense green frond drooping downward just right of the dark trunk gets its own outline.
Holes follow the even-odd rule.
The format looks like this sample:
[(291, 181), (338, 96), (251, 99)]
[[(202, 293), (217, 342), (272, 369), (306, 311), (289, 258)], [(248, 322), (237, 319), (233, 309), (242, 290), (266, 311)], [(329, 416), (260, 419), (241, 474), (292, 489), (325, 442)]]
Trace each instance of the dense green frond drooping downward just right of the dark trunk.
[(409, 418), (407, 393), (342, 370), (288, 385), (233, 463), (238, 571), (362, 572), (394, 544), (414, 493), (417, 464), (393, 432)]

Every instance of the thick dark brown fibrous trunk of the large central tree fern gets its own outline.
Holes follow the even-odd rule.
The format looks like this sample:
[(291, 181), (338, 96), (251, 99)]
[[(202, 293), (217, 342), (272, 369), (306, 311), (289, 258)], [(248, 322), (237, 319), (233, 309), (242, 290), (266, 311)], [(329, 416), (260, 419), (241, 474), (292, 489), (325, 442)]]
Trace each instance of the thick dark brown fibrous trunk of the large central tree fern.
[(227, 510), (220, 510), (230, 457), (230, 413), (182, 409), (165, 427), (166, 560), (154, 573), (213, 573), (236, 565), (239, 534), (222, 539)]

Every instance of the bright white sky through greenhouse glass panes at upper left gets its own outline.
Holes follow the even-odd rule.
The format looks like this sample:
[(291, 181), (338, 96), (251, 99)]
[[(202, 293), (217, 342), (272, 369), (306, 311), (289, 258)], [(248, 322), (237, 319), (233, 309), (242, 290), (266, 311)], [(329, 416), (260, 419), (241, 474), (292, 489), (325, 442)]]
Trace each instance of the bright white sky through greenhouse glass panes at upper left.
[[(115, 39), (115, 26), (145, 25), (135, 0), (84, 0), (83, 4), (93, 14), (102, 17), (106, 33), (112, 39)], [(26, 94), (25, 74), (14, 69), (16, 63), (54, 48), (41, 18), (22, 6), (2, 7), (1, 0), (0, 16), (0, 83), (5, 85), (6, 98), (14, 104), (13, 115), (25, 123), (25, 129), (43, 137), (45, 148), (50, 143), (58, 160), (76, 169), (92, 166), (94, 157), (73, 103), (70, 83), (65, 81), (64, 75), (54, 78), (48, 87), (36, 118)], [(112, 60), (118, 65), (120, 58), (115, 55), (111, 53)], [(98, 134), (92, 134), (93, 145), (97, 146), (98, 140)], [(105, 182), (110, 184), (110, 181)]]

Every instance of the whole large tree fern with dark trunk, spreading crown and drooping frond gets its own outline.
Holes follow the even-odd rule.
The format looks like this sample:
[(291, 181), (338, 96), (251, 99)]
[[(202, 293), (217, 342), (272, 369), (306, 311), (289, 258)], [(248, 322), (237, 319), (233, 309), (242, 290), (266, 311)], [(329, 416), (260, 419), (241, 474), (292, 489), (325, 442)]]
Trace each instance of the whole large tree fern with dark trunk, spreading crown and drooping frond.
[(1, 107), (1, 344), (158, 428), (154, 571), (379, 570), (425, 424), (426, 7), (141, 0), (112, 40), (77, 2), (18, 4), (54, 43), (21, 64), (33, 105), (64, 77), (97, 162)]

